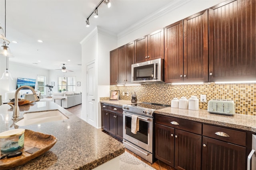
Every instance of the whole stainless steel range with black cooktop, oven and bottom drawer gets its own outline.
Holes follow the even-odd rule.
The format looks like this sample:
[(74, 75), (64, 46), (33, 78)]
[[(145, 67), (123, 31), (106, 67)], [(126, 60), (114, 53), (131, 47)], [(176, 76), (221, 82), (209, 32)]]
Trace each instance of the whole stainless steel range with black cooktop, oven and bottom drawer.
[[(124, 136), (123, 144), (126, 149), (131, 150), (141, 158), (150, 163), (154, 162), (153, 148), (153, 113), (157, 109), (170, 107), (169, 105), (154, 103), (139, 103), (123, 105), (124, 115)], [(132, 115), (137, 115), (139, 119), (139, 131), (134, 134), (131, 132)]]

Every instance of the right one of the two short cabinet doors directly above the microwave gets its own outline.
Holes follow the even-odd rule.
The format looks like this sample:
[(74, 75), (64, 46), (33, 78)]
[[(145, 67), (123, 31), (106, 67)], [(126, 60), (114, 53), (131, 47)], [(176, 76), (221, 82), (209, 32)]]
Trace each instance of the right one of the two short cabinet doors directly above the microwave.
[(148, 60), (164, 59), (164, 29), (148, 35)]

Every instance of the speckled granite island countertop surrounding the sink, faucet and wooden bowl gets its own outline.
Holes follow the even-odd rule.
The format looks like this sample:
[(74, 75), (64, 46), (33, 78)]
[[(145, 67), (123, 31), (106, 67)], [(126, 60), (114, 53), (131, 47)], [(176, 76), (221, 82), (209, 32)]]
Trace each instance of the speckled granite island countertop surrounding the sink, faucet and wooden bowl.
[[(93, 169), (124, 153), (124, 145), (122, 143), (54, 102), (34, 102), (20, 106), (20, 115), (23, 117), (25, 112), (54, 109), (58, 109), (69, 119), (42, 123), (40, 126), (36, 124), (20, 128), (54, 135), (58, 140), (57, 143), (44, 154), (15, 169)], [(0, 113), (2, 117), (10, 117), (10, 121), (7, 122), (0, 117), (0, 132), (14, 129), (14, 127), (10, 128), (13, 123), (11, 119), (12, 107), (8, 104), (1, 105)]]

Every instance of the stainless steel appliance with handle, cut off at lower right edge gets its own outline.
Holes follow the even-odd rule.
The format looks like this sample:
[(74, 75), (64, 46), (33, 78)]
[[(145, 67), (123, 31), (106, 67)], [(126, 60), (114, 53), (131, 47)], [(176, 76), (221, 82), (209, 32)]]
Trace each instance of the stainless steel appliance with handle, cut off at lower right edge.
[(247, 158), (247, 170), (256, 170), (256, 135), (252, 135), (252, 150)]

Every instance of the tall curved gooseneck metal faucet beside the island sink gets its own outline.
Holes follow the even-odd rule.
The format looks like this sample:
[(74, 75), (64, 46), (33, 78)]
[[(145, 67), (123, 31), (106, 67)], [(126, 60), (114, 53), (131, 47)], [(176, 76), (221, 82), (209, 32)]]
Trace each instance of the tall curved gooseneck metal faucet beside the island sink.
[(20, 107), (18, 106), (18, 94), (19, 94), (19, 92), (22, 88), (29, 88), (33, 92), (35, 102), (40, 100), (40, 99), (38, 99), (38, 97), (36, 95), (36, 92), (32, 87), (30, 87), (30, 86), (20, 86), (19, 88), (17, 88), (17, 90), (15, 92), (14, 106), (12, 104), (10, 104), (10, 106), (12, 106), (12, 108), (13, 108), (12, 119), (17, 119), (17, 118), (20, 117)]

